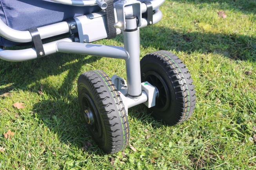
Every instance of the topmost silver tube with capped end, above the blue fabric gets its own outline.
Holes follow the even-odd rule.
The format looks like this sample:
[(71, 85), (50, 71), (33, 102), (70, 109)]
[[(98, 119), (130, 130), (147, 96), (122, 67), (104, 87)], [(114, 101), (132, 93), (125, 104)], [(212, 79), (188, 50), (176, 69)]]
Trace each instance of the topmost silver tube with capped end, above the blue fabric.
[(73, 6), (92, 6), (98, 5), (101, 9), (107, 8), (107, 3), (103, 0), (52, 0), (60, 4), (73, 5)]

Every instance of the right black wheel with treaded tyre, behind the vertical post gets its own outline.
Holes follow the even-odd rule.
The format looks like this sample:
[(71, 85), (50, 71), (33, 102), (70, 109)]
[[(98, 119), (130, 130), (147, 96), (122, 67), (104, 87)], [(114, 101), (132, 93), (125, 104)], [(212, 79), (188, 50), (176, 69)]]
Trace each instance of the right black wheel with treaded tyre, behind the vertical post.
[(168, 51), (145, 55), (140, 61), (142, 82), (149, 82), (159, 91), (156, 106), (149, 108), (153, 117), (167, 125), (187, 120), (196, 105), (196, 91), (185, 64)]

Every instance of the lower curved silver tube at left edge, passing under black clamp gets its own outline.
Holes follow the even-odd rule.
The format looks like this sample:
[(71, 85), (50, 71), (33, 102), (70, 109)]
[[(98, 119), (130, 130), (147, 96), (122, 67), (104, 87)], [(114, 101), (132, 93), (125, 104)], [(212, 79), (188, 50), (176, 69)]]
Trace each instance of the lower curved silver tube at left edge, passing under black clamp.
[[(56, 53), (56, 43), (60, 41), (69, 41), (72, 40), (70, 38), (60, 39), (58, 41), (53, 41), (51, 43), (44, 44), (44, 52), (45, 55)], [(36, 51), (34, 48), (28, 48), (24, 50), (4, 50), (0, 48), (0, 59), (6, 61), (26, 61), (31, 59), (36, 59)]]

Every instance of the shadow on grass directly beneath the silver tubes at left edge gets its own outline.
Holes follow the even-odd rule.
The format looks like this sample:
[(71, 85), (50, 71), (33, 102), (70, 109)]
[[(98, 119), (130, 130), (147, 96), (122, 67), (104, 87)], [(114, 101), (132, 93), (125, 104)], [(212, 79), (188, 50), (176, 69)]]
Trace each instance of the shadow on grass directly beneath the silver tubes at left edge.
[(85, 68), (86, 64), (100, 58), (93, 56), (85, 59), (85, 55), (56, 53), (22, 62), (0, 60), (0, 95), (12, 89), (37, 91), (39, 90), (38, 87), (42, 85), (38, 84), (40, 80), (64, 72), (67, 72), (67, 75), (62, 85), (55, 89), (60, 95), (67, 95), (71, 90), (73, 81), (78, 78), (78, 73), (82, 70), (82, 67)]

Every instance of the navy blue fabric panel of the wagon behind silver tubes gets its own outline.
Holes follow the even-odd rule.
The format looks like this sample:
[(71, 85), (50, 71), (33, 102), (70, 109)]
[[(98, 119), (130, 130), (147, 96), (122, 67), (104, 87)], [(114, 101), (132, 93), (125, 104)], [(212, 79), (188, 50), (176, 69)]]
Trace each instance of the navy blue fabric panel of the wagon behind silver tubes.
[[(77, 7), (51, 0), (0, 0), (1, 20), (16, 30), (42, 27), (100, 10), (97, 5)], [(0, 37), (2, 46), (11, 47), (16, 44), (18, 43)]]

